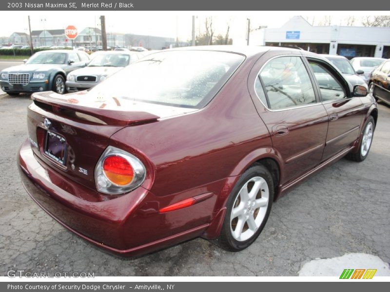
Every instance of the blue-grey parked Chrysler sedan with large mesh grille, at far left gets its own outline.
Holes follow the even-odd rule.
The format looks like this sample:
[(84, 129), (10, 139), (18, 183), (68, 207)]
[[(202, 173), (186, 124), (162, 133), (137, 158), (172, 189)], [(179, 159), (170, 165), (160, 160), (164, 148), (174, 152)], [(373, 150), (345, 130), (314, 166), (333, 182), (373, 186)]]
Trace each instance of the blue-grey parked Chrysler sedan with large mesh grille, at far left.
[(88, 62), (89, 55), (81, 51), (41, 51), (25, 60), (25, 64), (1, 71), (0, 87), (9, 95), (49, 90), (63, 94), (66, 75)]

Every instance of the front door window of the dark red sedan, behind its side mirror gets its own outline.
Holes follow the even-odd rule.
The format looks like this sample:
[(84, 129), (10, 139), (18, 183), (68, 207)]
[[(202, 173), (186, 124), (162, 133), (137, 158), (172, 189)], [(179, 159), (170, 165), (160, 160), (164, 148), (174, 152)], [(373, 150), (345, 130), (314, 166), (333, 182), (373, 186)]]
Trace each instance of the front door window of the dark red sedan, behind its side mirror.
[(313, 61), (309, 61), (309, 63), (315, 79), (317, 79), (323, 101), (346, 97), (343, 87), (324, 65)]

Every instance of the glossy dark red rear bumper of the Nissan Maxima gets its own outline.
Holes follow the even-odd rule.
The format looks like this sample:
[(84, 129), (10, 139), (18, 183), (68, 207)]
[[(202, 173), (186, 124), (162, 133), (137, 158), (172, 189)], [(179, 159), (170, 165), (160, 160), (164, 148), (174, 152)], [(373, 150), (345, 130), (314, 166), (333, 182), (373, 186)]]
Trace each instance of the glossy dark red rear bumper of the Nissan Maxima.
[(139, 187), (99, 201), (96, 191), (67, 181), (43, 164), (28, 140), (20, 148), (18, 164), (24, 188), (46, 213), (79, 237), (120, 256), (138, 256), (198, 237), (210, 225), (210, 217), (199, 212), (211, 208), (214, 200), (159, 214), (160, 198)]

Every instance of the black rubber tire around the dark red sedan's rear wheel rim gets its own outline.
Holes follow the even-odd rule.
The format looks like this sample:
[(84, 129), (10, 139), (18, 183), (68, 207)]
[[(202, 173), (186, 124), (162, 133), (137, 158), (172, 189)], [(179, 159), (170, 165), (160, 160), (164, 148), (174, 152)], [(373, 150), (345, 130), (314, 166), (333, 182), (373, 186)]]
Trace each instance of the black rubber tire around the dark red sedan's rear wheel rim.
[[(265, 217), (261, 221), (261, 224), (258, 227), (257, 231), (255, 231), (255, 233), (251, 237), (249, 237), (245, 241), (238, 241), (233, 237), (232, 233), (234, 231), (233, 231), (233, 229), (231, 229), (232, 228), (231, 224), (233, 222), (233, 221), (231, 221), (231, 214), (232, 214), (232, 210), (234, 208), (234, 202), (236, 202), (236, 198), (238, 198), (239, 192), (243, 188), (243, 186), (249, 180), (251, 180), (252, 178), (255, 178), (255, 177), (263, 178), (265, 180), (265, 182), (267, 183), (268, 188), (269, 188), (268, 205), (267, 205), (267, 209), (265, 212)], [(263, 188), (263, 186), (261, 186), (261, 188)], [(260, 235), (265, 224), (267, 223), (267, 219), (268, 219), (270, 212), (271, 212), (271, 206), (272, 206), (272, 202), (273, 202), (273, 193), (274, 193), (273, 179), (272, 179), (272, 175), (268, 171), (268, 169), (266, 167), (264, 167), (264, 165), (262, 165), (262, 164), (254, 164), (253, 166), (248, 168), (242, 174), (242, 176), (240, 177), (238, 182), (234, 185), (234, 188), (229, 195), (228, 201), (226, 203), (226, 214), (225, 214), (225, 219), (223, 221), (221, 233), (220, 233), (219, 237), (216, 240), (214, 240), (214, 243), (216, 245), (218, 245), (219, 247), (221, 247), (227, 251), (231, 251), (231, 252), (238, 252), (238, 251), (241, 251), (241, 250), (247, 248), (248, 246), (250, 246), (254, 242), (254, 240), (256, 240), (256, 238)], [(260, 194), (260, 193), (257, 193), (257, 194)], [(259, 216), (259, 214), (260, 214), (259, 211), (257, 211), (256, 216)], [(237, 217), (237, 220), (238, 220), (238, 217)], [(236, 224), (238, 225), (238, 223), (236, 223)], [(245, 223), (245, 224), (248, 224), (248, 223)], [(237, 228), (237, 225), (236, 225), (236, 228)], [(249, 225), (247, 225), (247, 226), (249, 229)], [(245, 225), (244, 225), (244, 227), (245, 227)]]

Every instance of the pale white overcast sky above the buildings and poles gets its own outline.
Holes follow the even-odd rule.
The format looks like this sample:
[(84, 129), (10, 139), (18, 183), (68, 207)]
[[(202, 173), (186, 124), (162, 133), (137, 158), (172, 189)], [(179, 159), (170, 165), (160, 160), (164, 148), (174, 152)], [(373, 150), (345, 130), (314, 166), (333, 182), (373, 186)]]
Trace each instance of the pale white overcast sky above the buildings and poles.
[[(0, 37), (8, 37), (13, 32), (28, 33), (27, 13), (23, 12), (3, 12), (0, 17)], [(46, 15), (41, 15), (41, 14)], [(95, 13), (91, 12), (30, 12), (31, 15), (31, 30), (45, 29), (64, 29), (67, 25), (75, 25), (78, 31), (85, 27), (100, 28), (100, 20)], [(140, 35), (160, 36), (160, 37), (174, 37), (176, 36), (181, 41), (191, 39), (192, 16), (191, 13), (183, 13), (179, 16), (172, 13), (165, 12), (111, 12), (106, 14), (106, 30), (107, 32), (117, 33), (133, 33)], [(213, 23), (215, 27), (215, 35), (226, 32), (227, 23), (231, 24), (231, 36), (234, 34), (245, 34), (246, 18), (251, 18), (252, 27), (259, 25), (267, 25), (268, 27), (280, 27), (292, 16), (291, 13), (281, 12), (250, 12), (250, 15), (242, 13), (231, 12), (223, 13), (218, 16), (213, 16)], [(309, 16), (311, 19), (313, 16)], [(316, 19), (322, 18), (321, 15), (315, 16)], [(204, 30), (204, 18), (198, 16), (196, 18), (196, 34)], [(332, 24), (343, 24), (345, 15), (338, 14), (332, 16)], [(361, 19), (362, 16), (357, 16)], [(44, 21), (45, 20), (45, 21)], [(311, 20), (310, 20), (311, 21)], [(12, 23), (12, 25), (10, 25)], [(359, 25), (360, 21), (356, 21)], [(200, 26), (200, 27), (199, 27)]]

